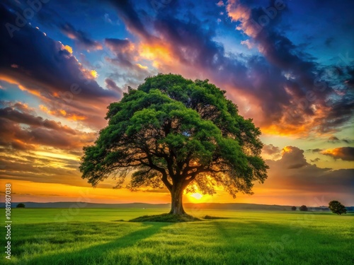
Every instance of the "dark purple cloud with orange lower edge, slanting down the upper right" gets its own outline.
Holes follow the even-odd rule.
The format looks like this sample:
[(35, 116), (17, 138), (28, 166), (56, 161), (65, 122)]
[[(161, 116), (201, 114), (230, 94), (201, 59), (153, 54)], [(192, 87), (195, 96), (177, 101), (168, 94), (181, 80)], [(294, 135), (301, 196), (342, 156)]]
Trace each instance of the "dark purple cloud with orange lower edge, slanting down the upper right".
[[(271, 16), (270, 8), (273, 10)], [(309, 128), (316, 128), (321, 132), (336, 131), (353, 116), (353, 94), (346, 92), (337, 100), (328, 100), (329, 95), (335, 92), (330, 84), (324, 85), (319, 74), (316, 76), (315, 73), (320, 71), (319, 66), (309, 54), (302, 52), (277, 30), (282, 13), (286, 10), (285, 4), (279, 6), (277, 1), (271, 1), (267, 8), (250, 8), (238, 0), (227, 2), (229, 17), (239, 23), (236, 29), (252, 38), (259, 52), (274, 68), (272, 76), (278, 75), (271, 83), (279, 95), (278, 100), (272, 100), (272, 103), (277, 103), (273, 108), (267, 106), (269, 110), (278, 114), (272, 115), (280, 125), (278, 131), (285, 131), (283, 126), (291, 126), (295, 133), (299, 132), (296, 128), (304, 131), (308, 131)], [(261, 78), (258, 78), (255, 75), (256, 80), (261, 81), (266, 87), (267, 84), (263, 83), (263, 80), (269, 81), (268, 78), (264, 78), (264, 74), (260, 76)], [(338, 78), (335, 79), (338, 82)], [(321, 86), (324, 88), (319, 88), (319, 81), (322, 81)], [(291, 131), (287, 133), (291, 134)]]

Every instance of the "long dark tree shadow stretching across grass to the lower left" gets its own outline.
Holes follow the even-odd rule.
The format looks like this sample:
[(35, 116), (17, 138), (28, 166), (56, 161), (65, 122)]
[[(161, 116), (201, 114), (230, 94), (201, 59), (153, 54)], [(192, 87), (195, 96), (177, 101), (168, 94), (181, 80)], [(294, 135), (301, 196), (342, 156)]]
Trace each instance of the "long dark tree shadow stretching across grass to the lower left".
[(118, 237), (117, 239), (101, 244), (93, 245), (79, 251), (61, 252), (57, 254), (43, 254), (40, 257), (35, 257), (28, 260), (26, 264), (101, 264), (105, 263), (105, 256), (111, 250), (118, 252), (120, 249), (132, 247), (139, 240), (144, 240), (147, 237), (158, 233), (161, 228), (170, 225), (169, 223), (146, 223), (145, 228), (130, 232), (127, 235)]

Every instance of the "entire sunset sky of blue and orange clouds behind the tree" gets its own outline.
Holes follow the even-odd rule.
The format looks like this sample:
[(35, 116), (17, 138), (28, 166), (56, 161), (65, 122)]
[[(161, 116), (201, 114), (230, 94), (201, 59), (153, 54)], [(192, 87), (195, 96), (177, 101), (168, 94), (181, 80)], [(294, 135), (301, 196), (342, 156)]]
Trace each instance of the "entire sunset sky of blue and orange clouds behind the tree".
[(13, 201), (170, 202), (113, 179), (92, 188), (78, 166), (110, 102), (179, 73), (227, 91), (270, 166), (252, 196), (185, 202), (354, 206), (354, 1), (30, 3), (0, 4), (1, 195), (9, 182)]

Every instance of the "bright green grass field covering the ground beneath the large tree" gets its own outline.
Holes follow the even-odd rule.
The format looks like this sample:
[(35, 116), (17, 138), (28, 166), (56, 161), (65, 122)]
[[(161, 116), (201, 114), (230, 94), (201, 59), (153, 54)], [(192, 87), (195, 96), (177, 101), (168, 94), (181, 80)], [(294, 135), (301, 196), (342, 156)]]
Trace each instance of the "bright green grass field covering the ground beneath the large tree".
[(0, 264), (354, 264), (353, 213), (190, 210), (227, 219), (126, 221), (164, 212), (13, 209), (12, 256), (2, 252)]

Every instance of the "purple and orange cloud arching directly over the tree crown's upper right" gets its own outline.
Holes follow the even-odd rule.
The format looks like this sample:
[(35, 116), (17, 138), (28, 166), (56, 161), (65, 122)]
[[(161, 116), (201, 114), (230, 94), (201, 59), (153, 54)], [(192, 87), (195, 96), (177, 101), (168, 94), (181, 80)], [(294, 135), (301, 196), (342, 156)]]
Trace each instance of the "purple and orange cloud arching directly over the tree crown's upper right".
[(242, 109), (251, 107), (246, 116), (256, 117), (258, 126), (280, 124), (282, 108), (290, 105), (291, 99), (282, 87), (286, 78), (280, 69), (263, 57), (229, 56), (222, 45), (212, 40), (215, 32), (200, 28), (196, 18), (159, 18), (154, 21), (154, 30), (161, 41), (149, 42), (146, 53), (159, 71), (179, 72), (188, 78), (205, 76), (227, 90), (229, 98), (241, 105), (241, 114)]

